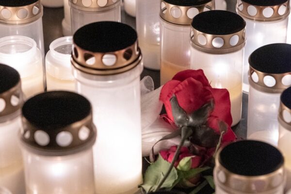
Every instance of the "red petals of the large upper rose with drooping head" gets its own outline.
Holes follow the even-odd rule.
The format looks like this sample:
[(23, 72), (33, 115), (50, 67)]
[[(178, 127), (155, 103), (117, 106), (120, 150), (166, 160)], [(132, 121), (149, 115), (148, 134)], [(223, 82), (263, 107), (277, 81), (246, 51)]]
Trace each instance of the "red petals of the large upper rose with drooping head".
[[(201, 126), (203, 130), (202, 137), (209, 138), (210, 134), (216, 142), (218, 142), (220, 131), (220, 122), (226, 123), (226, 131), (222, 139), (222, 143), (231, 142), (236, 139), (236, 135), (230, 128), (232, 124), (232, 117), (230, 113), (230, 98), (226, 89), (215, 89), (210, 86), (209, 81), (205, 77), (203, 70), (185, 70), (174, 76), (171, 81), (168, 81), (163, 87), (160, 94), (160, 100), (164, 103), (166, 114), (162, 115), (164, 119), (172, 125), (175, 125), (172, 114), (170, 99), (176, 96), (178, 105), (188, 114), (197, 111), (205, 104), (214, 102), (214, 109), (207, 118), (207, 126)], [(199, 131), (199, 134), (201, 131)], [(200, 139), (199, 139), (199, 138)], [(204, 146), (201, 136), (194, 134), (190, 137), (190, 141), (198, 146)], [(206, 140), (207, 141), (207, 140)], [(208, 143), (211, 141), (208, 141)], [(210, 147), (215, 144), (212, 142)]]

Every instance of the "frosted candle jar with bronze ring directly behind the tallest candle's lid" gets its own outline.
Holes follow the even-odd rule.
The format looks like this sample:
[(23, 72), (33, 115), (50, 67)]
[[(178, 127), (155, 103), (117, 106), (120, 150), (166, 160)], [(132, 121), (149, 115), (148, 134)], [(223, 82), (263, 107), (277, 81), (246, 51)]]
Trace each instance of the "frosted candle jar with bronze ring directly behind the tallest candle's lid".
[(97, 21), (121, 20), (121, 0), (69, 0), (72, 32)]

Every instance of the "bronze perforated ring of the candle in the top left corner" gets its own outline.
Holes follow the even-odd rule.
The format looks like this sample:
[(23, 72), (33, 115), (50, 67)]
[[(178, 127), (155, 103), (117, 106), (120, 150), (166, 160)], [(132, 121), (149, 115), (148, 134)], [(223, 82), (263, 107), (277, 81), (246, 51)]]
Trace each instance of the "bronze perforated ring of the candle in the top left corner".
[(26, 24), (36, 21), (42, 15), (43, 7), (40, 0), (21, 7), (0, 6), (0, 23)]

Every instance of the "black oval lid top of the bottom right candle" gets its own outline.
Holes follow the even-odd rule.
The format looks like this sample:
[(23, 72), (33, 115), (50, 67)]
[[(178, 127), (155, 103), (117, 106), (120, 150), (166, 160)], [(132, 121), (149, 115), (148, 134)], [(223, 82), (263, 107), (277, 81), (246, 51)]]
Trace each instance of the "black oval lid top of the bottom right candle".
[(278, 170), (284, 158), (277, 148), (259, 141), (240, 141), (226, 146), (219, 162), (228, 171), (242, 176), (261, 176)]

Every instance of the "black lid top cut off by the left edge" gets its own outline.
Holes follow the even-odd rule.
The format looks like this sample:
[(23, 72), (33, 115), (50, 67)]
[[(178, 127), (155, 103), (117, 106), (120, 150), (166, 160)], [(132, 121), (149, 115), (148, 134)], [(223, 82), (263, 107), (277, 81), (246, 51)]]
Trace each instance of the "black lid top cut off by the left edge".
[(20, 75), (14, 68), (0, 64), (0, 94), (16, 86), (19, 81)]

